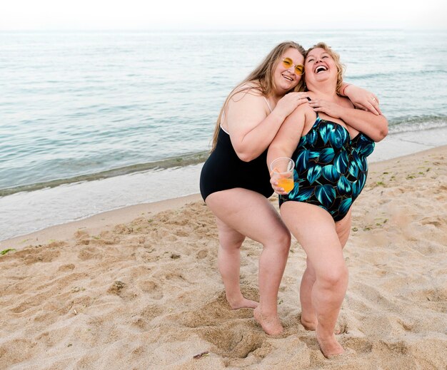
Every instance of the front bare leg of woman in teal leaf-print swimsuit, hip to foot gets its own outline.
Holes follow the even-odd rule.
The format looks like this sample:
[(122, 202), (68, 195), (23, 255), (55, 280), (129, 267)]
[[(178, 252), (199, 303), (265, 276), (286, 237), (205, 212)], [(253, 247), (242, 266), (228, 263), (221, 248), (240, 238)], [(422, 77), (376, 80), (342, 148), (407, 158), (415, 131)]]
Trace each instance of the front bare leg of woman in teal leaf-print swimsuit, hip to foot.
[(284, 203), (281, 215), (306, 251), (315, 274), (311, 299), (306, 302), (311, 302), (308, 307), (316, 312), (316, 337), (321, 351), (326, 357), (342, 354), (344, 350), (336, 339), (334, 328), (348, 286), (348, 269), (335, 222), (321, 207), (302, 202)]

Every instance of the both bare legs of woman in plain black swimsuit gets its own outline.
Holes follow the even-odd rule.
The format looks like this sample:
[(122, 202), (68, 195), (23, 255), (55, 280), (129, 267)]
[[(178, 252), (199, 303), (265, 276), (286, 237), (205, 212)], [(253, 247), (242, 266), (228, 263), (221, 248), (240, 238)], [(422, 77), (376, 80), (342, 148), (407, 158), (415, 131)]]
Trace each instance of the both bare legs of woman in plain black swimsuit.
[[(290, 247), (290, 233), (278, 212), (262, 195), (241, 188), (215, 192), (206, 198), (206, 204), (219, 218), (221, 249), (218, 263), (227, 297), (240, 292), (238, 250), (242, 237), (250, 237), (263, 245), (259, 259), (259, 305), (253, 314), (267, 334), (281, 334), (283, 327), (278, 318), (277, 299)], [(231, 261), (231, 267), (224, 266), (225, 260)]]

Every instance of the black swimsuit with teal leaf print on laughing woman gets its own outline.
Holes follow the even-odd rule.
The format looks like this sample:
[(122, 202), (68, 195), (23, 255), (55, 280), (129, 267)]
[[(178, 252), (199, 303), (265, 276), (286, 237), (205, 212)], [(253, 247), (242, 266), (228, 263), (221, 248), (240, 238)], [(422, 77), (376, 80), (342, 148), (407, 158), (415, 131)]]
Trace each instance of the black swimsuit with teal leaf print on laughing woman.
[(375, 143), (364, 133), (351, 139), (338, 123), (316, 117), (292, 155), (295, 186), (279, 196), (279, 205), (295, 201), (318, 205), (334, 221), (342, 220), (366, 183)]

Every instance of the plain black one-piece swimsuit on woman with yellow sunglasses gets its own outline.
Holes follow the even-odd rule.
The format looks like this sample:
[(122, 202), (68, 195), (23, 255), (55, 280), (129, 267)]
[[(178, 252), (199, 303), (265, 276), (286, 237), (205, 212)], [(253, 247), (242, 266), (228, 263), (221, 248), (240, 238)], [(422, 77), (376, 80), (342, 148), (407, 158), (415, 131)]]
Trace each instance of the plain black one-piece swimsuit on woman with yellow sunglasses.
[(200, 175), (204, 200), (213, 192), (242, 187), (270, 197), (273, 189), (267, 167), (267, 150), (250, 162), (243, 162), (234, 151), (230, 135), (219, 130), (216, 148), (206, 160)]

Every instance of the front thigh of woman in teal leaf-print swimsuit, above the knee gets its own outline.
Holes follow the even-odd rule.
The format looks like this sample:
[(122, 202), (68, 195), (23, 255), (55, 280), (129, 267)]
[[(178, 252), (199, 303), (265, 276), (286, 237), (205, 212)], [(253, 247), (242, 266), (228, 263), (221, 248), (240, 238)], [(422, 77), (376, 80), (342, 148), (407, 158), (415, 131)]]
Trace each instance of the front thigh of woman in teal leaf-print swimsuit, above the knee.
[(317, 274), (344, 266), (336, 224), (326, 210), (303, 202), (285, 202), (281, 205), (281, 217)]

